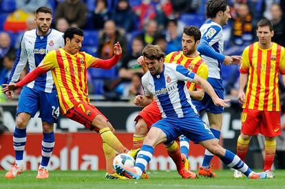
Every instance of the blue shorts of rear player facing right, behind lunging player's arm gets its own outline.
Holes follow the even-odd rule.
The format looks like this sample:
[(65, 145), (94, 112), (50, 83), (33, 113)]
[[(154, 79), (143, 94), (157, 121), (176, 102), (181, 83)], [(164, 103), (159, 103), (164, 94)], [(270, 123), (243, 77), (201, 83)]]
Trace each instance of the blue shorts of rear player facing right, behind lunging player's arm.
[[(222, 85), (222, 80), (216, 78), (208, 78), (207, 81), (211, 84), (218, 97), (224, 99), (224, 87)], [(215, 106), (213, 100), (211, 99), (208, 93), (204, 94), (204, 98), (202, 99), (202, 101), (192, 100), (192, 102), (196, 106), (198, 112), (202, 110), (215, 114), (224, 112), (224, 107)]]

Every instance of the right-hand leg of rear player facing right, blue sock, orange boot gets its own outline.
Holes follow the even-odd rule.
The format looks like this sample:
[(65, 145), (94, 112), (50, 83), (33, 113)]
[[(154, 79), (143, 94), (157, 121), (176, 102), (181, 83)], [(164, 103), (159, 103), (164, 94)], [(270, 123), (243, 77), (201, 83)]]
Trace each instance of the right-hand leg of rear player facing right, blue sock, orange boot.
[[(215, 138), (220, 140), (220, 130), (222, 128), (222, 113), (207, 113), (207, 115), (210, 124), (210, 130), (212, 131)], [(212, 159), (213, 154), (206, 149), (202, 166), (198, 171), (199, 175), (206, 175), (207, 177), (216, 177), (215, 173), (213, 173), (213, 166), (211, 166)]]

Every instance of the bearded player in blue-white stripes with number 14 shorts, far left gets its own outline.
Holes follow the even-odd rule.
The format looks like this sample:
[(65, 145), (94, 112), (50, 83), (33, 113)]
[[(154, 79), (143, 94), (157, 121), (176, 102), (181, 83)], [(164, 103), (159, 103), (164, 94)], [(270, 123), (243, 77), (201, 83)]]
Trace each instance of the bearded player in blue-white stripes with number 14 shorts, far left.
[[(21, 39), (21, 46), (14, 62), (9, 82), (19, 80), (19, 76), (25, 65), (29, 69), (35, 69), (47, 52), (64, 46), (63, 33), (50, 28), (52, 23), (52, 10), (40, 7), (36, 10), (34, 21), (36, 29), (27, 31)], [(12, 98), (12, 91), (7, 91), (6, 96)], [(52, 80), (52, 73), (42, 74), (39, 78), (23, 87), (19, 97), (17, 108), (16, 126), (13, 133), (13, 144), (16, 162), (6, 173), (6, 178), (14, 178), (21, 174), (24, 169), (23, 151), (26, 142), (26, 127), (30, 118), (36, 111), (40, 112), (43, 126), (43, 141), (41, 143), (41, 164), (39, 166), (37, 179), (48, 177), (47, 164), (52, 156), (54, 148), (54, 123), (59, 117), (59, 100)]]

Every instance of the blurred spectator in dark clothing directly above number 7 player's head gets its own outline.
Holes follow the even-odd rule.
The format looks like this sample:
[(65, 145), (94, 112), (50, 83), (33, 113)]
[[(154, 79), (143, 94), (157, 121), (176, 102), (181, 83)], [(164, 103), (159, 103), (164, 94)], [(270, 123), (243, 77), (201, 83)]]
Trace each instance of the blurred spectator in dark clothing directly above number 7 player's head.
[(67, 23), (74, 27), (85, 27), (87, 21), (87, 7), (80, 0), (65, 0), (56, 7), (56, 22), (64, 18)]

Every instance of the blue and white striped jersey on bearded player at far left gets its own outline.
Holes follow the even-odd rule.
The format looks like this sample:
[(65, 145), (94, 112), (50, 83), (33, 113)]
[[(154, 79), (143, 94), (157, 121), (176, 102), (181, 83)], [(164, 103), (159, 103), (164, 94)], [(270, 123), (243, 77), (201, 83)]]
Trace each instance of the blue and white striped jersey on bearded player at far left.
[[(47, 34), (47, 36), (37, 35), (36, 29), (25, 32), (21, 39), (17, 58), (9, 76), (9, 82), (14, 83), (19, 80), (19, 76), (27, 62), (29, 64), (29, 70), (32, 71), (39, 63), (41, 63), (41, 60), (43, 60), (47, 52), (59, 49), (63, 46), (63, 33), (57, 30), (51, 29), (50, 34)], [(41, 74), (36, 80), (30, 82), (27, 87), (45, 91), (47, 93), (56, 91), (51, 71), (48, 71), (46, 74)]]

